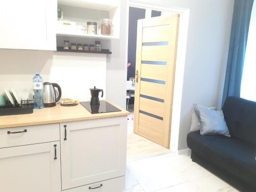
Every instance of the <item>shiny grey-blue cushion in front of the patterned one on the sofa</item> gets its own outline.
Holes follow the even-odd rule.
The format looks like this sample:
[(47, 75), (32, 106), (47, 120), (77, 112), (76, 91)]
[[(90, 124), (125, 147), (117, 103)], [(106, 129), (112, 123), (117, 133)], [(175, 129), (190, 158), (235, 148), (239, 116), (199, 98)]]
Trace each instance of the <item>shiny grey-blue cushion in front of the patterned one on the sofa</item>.
[(225, 135), (230, 137), (222, 110), (214, 111), (195, 107), (201, 135)]

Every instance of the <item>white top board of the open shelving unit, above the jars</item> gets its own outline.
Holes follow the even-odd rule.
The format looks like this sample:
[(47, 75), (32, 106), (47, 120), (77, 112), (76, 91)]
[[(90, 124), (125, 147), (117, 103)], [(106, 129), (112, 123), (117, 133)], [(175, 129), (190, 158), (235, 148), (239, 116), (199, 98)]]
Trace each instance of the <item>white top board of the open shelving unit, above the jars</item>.
[(116, 0), (58, 0), (58, 4), (87, 9), (110, 11), (119, 6)]

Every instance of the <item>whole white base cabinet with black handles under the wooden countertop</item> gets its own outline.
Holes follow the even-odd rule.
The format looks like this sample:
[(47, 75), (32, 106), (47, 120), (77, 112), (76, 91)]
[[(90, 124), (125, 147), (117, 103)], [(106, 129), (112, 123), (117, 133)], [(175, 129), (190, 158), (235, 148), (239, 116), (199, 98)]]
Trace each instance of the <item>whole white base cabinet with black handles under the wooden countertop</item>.
[(0, 191), (121, 192), (126, 138), (127, 116), (1, 129)]

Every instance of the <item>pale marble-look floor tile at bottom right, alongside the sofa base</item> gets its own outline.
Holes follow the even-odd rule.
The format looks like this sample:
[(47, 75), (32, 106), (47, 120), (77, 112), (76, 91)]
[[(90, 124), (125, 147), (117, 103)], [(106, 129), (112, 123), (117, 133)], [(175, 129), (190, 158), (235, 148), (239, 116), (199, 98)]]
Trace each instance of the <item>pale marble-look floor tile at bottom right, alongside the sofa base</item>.
[(215, 175), (195, 180), (194, 183), (206, 192), (238, 192)]

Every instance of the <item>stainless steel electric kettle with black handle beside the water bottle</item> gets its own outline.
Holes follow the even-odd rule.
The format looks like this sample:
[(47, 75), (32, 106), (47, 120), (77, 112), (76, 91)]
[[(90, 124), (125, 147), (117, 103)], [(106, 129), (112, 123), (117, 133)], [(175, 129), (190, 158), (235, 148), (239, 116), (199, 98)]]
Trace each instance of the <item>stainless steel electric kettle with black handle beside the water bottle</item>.
[[(58, 97), (56, 98), (56, 90), (58, 90)], [(61, 89), (57, 83), (44, 82), (44, 107), (49, 108), (56, 106), (56, 102), (61, 97)]]

